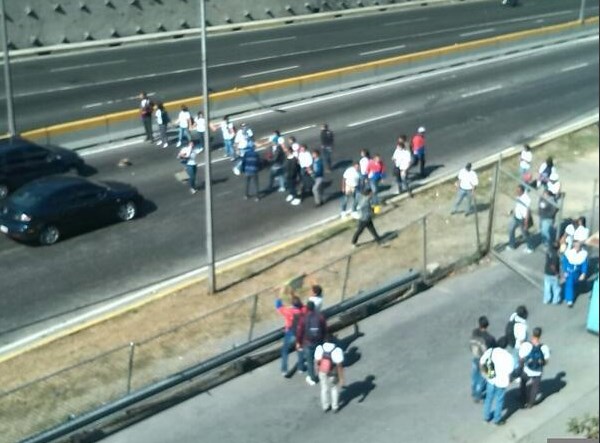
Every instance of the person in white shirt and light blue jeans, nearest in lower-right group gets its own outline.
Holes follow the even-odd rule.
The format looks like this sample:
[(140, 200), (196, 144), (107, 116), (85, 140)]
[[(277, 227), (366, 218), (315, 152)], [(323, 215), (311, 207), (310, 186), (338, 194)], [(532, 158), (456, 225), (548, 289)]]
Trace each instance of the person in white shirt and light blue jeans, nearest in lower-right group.
[(505, 347), (506, 337), (500, 337), (496, 347), (485, 351), (479, 360), (483, 375), (487, 379), (483, 419), (486, 422), (493, 421), (495, 425), (504, 424), (502, 419), (504, 395), (510, 385), (510, 375), (515, 367), (513, 356), (504, 349)]

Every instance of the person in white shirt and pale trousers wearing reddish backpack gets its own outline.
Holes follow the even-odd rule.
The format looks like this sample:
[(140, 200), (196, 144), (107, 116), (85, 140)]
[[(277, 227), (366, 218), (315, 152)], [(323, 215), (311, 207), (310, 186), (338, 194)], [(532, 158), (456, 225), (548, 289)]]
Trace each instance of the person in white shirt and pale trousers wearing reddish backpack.
[(340, 386), (344, 386), (344, 351), (327, 335), (315, 349), (315, 369), (321, 385), (321, 408), (336, 413), (340, 406)]

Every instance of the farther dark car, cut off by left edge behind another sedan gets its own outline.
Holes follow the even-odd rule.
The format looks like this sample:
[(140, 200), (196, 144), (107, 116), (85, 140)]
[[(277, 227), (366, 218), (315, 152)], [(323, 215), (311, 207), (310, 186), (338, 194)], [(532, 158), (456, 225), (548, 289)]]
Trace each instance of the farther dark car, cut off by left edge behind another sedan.
[(0, 139), (0, 200), (36, 178), (61, 174), (84, 162), (73, 151), (55, 146), (40, 146), (20, 137)]

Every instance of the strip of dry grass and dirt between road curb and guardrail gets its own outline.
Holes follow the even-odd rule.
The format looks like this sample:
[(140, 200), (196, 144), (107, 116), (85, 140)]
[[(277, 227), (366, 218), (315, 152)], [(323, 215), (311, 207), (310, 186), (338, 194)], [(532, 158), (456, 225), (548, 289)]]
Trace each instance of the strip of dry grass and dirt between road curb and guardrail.
[[(548, 155), (554, 156), (559, 170), (569, 165), (565, 169), (571, 176), (561, 175), (564, 182), (576, 181), (577, 171), (583, 169), (593, 168), (597, 176), (598, 128), (550, 142), (534, 155), (534, 168)], [(517, 159), (504, 161), (503, 169), (516, 175)], [(226, 289), (217, 295), (208, 295), (204, 283), (195, 284), (0, 364), (4, 393), (26, 385), (0, 394), (0, 440), (39, 432), (280, 326), (273, 302), (284, 282), (294, 280), (302, 297), (318, 283), (324, 288), (325, 305), (333, 305), (407, 269), (449, 265), (481, 250), (489, 225), (493, 168), (478, 173), (476, 216), (450, 215), (456, 191), (453, 183), (443, 184), (384, 206), (375, 225), (389, 239), (385, 247), (374, 244), (365, 232), (363, 244), (352, 249), (355, 222), (341, 221), (299, 244), (220, 274), (219, 285)], [(515, 185), (506, 175), (499, 182), (494, 224), (498, 242), (507, 237)], [(535, 208), (537, 201), (533, 204)]]

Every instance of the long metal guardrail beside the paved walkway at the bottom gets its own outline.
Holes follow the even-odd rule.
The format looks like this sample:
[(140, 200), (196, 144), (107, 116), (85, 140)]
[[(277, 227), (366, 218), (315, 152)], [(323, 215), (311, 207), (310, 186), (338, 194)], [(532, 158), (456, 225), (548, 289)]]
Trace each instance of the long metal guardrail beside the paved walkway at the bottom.
[[(338, 315), (348, 309), (360, 306), (365, 302), (373, 300), (381, 295), (385, 295), (393, 290), (399, 290), (400, 288), (413, 284), (417, 282), (421, 278), (421, 273), (417, 271), (410, 270), (406, 275), (395, 279), (387, 284), (384, 284), (377, 289), (370, 291), (362, 296), (353, 297), (352, 299), (348, 299), (342, 301), (338, 305), (332, 306), (323, 311), (323, 314), (327, 318), (331, 318), (335, 315)], [(146, 388), (140, 389), (130, 395), (127, 395), (113, 403), (110, 403), (106, 406), (96, 409), (95, 411), (84, 414), (80, 417), (77, 417), (63, 425), (57, 426), (53, 429), (50, 429), (46, 432), (38, 434), (34, 437), (23, 440), (23, 443), (48, 443), (57, 438), (64, 437), (77, 429), (80, 429), (86, 425), (94, 423), (98, 420), (101, 420), (109, 415), (112, 415), (118, 411), (121, 411), (129, 406), (132, 406), (136, 403), (139, 403), (143, 400), (146, 400), (152, 396), (160, 394), (168, 389), (171, 389), (175, 386), (178, 386), (186, 381), (189, 381), (195, 377), (198, 377), (202, 374), (206, 374), (209, 371), (212, 371), (220, 366), (231, 363), (241, 357), (244, 357), (258, 349), (261, 349), (267, 345), (275, 343), (277, 340), (280, 340), (283, 337), (283, 330), (277, 329), (275, 331), (271, 331), (267, 334), (262, 335), (259, 338), (256, 338), (246, 344), (239, 346), (238, 348), (232, 349), (228, 352), (225, 352), (217, 357), (211, 358), (205, 362), (202, 362), (198, 365), (195, 365), (189, 369), (181, 371), (177, 374), (174, 374), (166, 379), (155, 383)]]

